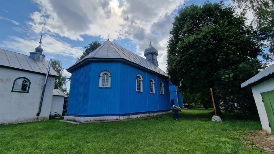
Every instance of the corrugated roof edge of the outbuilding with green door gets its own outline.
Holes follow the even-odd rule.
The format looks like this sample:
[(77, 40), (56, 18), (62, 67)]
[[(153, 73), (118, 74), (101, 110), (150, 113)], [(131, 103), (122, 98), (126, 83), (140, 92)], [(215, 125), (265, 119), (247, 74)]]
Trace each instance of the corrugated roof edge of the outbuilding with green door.
[(247, 85), (250, 85), (256, 81), (259, 81), (271, 74), (274, 73), (274, 64), (270, 65), (269, 67), (267, 67), (266, 69), (262, 70), (260, 73), (256, 74), (255, 76), (253, 76), (252, 78), (248, 79), (246, 82), (241, 84), (241, 87), (246, 87)]

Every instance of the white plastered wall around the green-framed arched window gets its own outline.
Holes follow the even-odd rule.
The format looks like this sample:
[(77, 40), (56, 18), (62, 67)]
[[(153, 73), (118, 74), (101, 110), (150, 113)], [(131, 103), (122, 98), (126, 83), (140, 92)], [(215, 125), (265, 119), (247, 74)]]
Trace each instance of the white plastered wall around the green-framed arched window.
[[(29, 93), (11, 92), (13, 81), (30, 80)], [(49, 76), (40, 116), (38, 113), (45, 75), (0, 67), (0, 124), (45, 120), (49, 117), (55, 77)]]

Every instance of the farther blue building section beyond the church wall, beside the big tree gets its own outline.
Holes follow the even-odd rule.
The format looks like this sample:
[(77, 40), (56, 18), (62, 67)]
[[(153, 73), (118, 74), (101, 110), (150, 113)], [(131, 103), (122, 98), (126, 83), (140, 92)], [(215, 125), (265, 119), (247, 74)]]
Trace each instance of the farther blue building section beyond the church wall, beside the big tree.
[(170, 101), (171, 105), (184, 107), (183, 97), (181, 91), (169, 81)]

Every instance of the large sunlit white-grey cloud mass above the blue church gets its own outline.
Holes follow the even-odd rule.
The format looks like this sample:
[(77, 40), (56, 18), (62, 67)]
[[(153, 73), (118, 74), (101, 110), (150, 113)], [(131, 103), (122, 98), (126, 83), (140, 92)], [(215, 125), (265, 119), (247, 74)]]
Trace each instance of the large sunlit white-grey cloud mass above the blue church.
[[(180, 0), (68, 0), (66, 3), (53, 0), (34, 1), (41, 11), (30, 15), (32, 20), (28, 25), (35, 33), (41, 32), (41, 27), (44, 26), (48, 35), (60, 35), (72, 40), (82, 41), (82, 35), (98, 36), (104, 40), (110, 35), (111, 41), (128, 38), (136, 45), (137, 53), (141, 56), (151, 38), (152, 45), (159, 52), (159, 68), (164, 71), (167, 59), (166, 42), (174, 19), (172, 13), (184, 2)], [(153, 34), (153, 31), (157, 34)], [(46, 42), (44, 44), (46, 45)]]

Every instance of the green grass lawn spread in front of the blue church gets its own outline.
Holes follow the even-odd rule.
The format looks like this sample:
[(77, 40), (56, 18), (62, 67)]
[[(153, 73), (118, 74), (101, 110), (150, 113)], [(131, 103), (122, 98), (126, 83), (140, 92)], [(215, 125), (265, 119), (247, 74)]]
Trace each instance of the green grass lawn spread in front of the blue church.
[(152, 119), (71, 124), (60, 119), (0, 125), (0, 153), (259, 153), (242, 143), (239, 133), (258, 130), (260, 121), (221, 115), (212, 109), (185, 109)]

